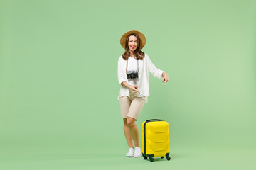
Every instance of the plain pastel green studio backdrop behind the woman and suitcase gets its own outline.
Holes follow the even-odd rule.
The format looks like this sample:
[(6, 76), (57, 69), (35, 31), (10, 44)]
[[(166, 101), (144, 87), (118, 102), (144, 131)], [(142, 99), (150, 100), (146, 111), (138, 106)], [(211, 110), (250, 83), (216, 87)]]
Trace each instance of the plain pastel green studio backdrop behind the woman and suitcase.
[[(0, 169), (256, 169), (256, 1), (0, 1)], [(171, 161), (128, 159), (117, 60), (128, 30)]]

